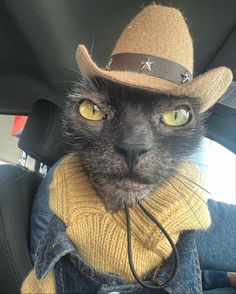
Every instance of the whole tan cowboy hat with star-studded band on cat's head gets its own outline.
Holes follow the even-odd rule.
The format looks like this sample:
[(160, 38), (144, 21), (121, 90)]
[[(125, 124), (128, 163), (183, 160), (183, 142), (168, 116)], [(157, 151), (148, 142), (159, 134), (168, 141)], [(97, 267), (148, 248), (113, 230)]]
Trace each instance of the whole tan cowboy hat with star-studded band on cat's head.
[(193, 45), (187, 24), (175, 8), (152, 4), (125, 28), (105, 69), (92, 60), (84, 45), (76, 54), (81, 74), (124, 85), (200, 99), (209, 109), (227, 90), (232, 72), (217, 67), (193, 79)]

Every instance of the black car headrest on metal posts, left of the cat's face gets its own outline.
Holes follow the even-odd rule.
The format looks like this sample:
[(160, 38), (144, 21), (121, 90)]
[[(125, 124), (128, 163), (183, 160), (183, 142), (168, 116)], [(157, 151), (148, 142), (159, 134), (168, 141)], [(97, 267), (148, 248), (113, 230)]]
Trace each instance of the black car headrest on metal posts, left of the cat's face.
[(62, 144), (62, 110), (47, 100), (34, 103), (18, 146), (32, 158), (52, 166), (65, 153)]

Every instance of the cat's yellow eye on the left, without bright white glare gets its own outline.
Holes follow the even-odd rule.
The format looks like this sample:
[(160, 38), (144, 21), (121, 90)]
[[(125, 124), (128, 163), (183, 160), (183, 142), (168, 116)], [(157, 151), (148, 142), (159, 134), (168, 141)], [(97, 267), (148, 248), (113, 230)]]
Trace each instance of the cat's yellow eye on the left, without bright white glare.
[(79, 113), (82, 117), (93, 121), (106, 118), (106, 114), (91, 100), (83, 100), (80, 103)]

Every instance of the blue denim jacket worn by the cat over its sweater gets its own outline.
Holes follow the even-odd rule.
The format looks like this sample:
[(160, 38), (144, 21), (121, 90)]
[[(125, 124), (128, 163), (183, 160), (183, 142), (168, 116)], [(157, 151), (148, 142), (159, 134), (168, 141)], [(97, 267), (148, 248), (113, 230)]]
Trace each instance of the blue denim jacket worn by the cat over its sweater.
[[(201, 271), (194, 233), (181, 234), (177, 243), (180, 265), (175, 280), (165, 290), (150, 290), (141, 285), (127, 284), (117, 274), (104, 273), (91, 266), (79, 254), (65, 232), (65, 224), (54, 215), (40, 240), (35, 260), (38, 279), (54, 270), (57, 293), (173, 293), (201, 294)], [(173, 256), (160, 268), (157, 281), (163, 284), (171, 274)], [(145, 280), (148, 282), (148, 275)]]

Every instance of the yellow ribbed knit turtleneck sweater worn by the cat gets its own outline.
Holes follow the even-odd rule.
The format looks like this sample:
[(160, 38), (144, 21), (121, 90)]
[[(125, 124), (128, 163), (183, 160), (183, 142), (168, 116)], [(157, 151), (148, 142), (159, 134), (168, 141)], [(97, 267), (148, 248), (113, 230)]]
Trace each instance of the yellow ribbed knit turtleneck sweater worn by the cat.
[[(172, 178), (158, 188), (145, 207), (162, 223), (174, 243), (184, 230), (206, 229), (210, 215), (204, 200), (202, 178), (196, 167), (180, 166), (188, 177)], [(191, 181), (196, 182), (194, 185)], [(75, 155), (68, 156), (54, 172), (50, 186), (50, 207), (66, 224), (66, 233), (80, 254), (95, 268), (114, 272), (133, 282), (127, 258), (127, 228), (124, 211), (105, 210)], [(171, 247), (160, 230), (151, 223), (138, 206), (130, 209), (133, 260), (137, 273), (161, 265), (171, 254)], [(25, 280), (23, 293), (55, 293), (53, 272), (38, 281), (34, 270)]]

